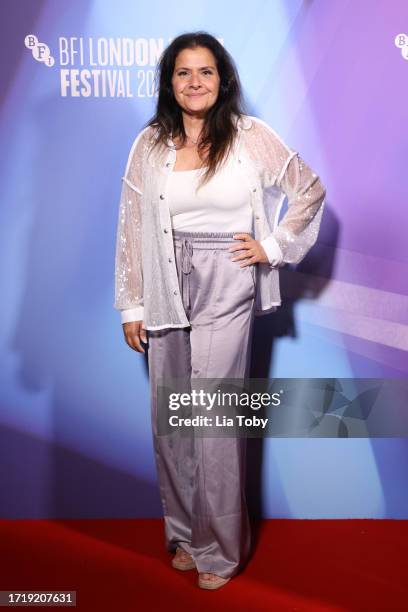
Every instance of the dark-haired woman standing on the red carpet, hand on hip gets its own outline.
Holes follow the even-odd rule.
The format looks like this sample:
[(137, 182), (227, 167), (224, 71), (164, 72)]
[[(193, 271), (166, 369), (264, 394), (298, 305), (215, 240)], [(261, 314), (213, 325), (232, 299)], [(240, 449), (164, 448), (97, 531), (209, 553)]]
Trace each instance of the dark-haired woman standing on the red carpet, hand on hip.
[(249, 554), (246, 439), (159, 436), (157, 386), (249, 375), (253, 318), (277, 309), (278, 268), (315, 243), (325, 189), (272, 128), (243, 114), (234, 62), (214, 37), (178, 36), (158, 70), (156, 114), (123, 176), (114, 306), (128, 345), (148, 344), (173, 567), (196, 568), (199, 586), (216, 589)]

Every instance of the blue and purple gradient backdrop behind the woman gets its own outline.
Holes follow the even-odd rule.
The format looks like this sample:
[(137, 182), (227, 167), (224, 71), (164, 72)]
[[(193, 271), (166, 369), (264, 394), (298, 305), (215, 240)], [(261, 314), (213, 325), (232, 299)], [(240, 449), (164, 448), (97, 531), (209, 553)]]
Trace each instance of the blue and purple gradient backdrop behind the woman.
[[(0, 11), (1, 517), (161, 516), (145, 359), (113, 309), (120, 177), (155, 98), (62, 97), (60, 37), (223, 39), (248, 112), (327, 187), (318, 244), (282, 275), (284, 308), (257, 321), (253, 373), (406, 377), (403, 0), (207, 0), (188, 11), (20, 0)], [(54, 66), (33, 59), (28, 34)], [(249, 503), (264, 517), (408, 518), (406, 439), (268, 439), (249, 455)]]

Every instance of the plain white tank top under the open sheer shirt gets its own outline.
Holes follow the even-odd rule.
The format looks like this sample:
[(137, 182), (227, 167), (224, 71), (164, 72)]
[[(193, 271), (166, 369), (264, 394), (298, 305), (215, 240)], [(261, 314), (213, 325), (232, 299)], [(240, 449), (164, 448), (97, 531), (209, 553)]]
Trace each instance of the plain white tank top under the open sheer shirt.
[(195, 189), (205, 168), (170, 172), (168, 202), (173, 229), (252, 232), (249, 185), (232, 155), (208, 183)]

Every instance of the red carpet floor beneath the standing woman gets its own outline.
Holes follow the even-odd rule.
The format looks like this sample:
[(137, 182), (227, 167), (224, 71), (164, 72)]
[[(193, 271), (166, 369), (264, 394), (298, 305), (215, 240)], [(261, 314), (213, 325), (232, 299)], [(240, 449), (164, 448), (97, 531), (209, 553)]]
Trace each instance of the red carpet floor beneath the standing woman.
[(158, 519), (0, 529), (0, 590), (76, 590), (79, 610), (408, 610), (407, 521), (263, 521), (245, 570), (212, 592), (196, 586), (195, 570), (170, 566)]

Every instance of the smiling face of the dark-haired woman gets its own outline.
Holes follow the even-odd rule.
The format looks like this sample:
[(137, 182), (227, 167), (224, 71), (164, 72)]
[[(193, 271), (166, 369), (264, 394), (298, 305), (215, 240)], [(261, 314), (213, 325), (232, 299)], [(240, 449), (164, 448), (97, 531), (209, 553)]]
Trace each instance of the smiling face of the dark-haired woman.
[(215, 104), (220, 88), (214, 55), (206, 47), (183, 49), (177, 55), (171, 82), (181, 108), (204, 116)]

